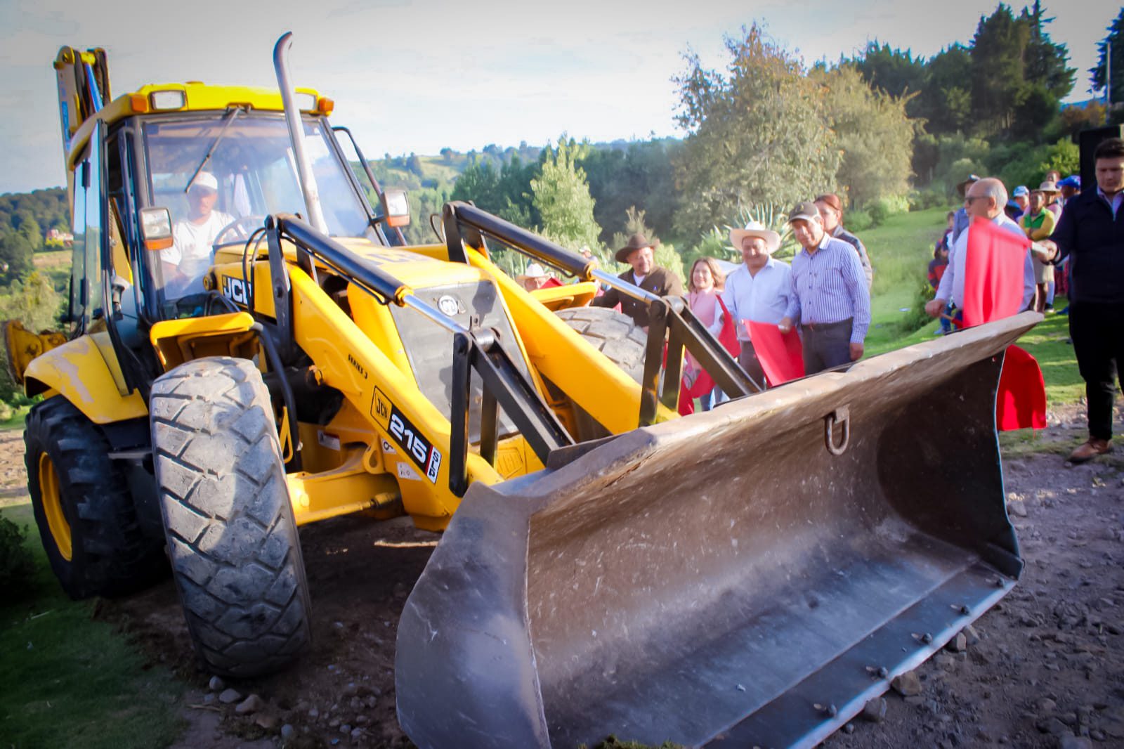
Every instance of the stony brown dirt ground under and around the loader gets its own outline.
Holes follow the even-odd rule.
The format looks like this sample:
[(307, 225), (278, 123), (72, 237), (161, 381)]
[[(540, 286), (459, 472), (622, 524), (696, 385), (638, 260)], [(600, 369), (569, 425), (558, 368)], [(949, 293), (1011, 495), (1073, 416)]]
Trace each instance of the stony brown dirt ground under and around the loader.
[[(1051, 422), (1037, 452), (1018, 445), (1004, 463), (1026, 560), (1018, 586), (966, 632), (962, 652), (917, 669), (921, 694), (891, 691), (885, 718), (855, 719), (825, 746), (1124, 747), (1124, 451), (1067, 467), (1059, 452), (1084, 437), (1084, 418), (1071, 408)], [(2, 433), (0, 497), (24, 480), (21, 434)], [(436, 536), (408, 520), (345, 518), (303, 529), (301, 541), (314, 646), (268, 679), (211, 688), (170, 580), (99, 602), (96, 616), (191, 685), (175, 749), (411, 746), (395, 720), (395, 630)], [(260, 702), (247, 712), (250, 695)]]

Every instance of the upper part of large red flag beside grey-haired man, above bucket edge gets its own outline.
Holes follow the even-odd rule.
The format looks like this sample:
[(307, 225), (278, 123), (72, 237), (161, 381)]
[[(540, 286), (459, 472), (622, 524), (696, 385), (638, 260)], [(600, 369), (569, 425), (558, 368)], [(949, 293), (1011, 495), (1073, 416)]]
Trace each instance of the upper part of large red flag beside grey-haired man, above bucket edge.
[(982, 325), (1018, 314), (1023, 268), (1031, 241), (977, 217), (968, 227), (964, 256), (964, 325)]

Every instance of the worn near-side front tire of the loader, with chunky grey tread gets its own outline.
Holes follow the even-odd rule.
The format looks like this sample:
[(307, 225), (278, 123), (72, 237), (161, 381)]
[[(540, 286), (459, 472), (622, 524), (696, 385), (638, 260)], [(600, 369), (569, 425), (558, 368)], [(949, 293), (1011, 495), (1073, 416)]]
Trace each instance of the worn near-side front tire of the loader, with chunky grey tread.
[(172, 576), (205, 667), (245, 678), (310, 641), (308, 581), (270, 394), (245, 359), (189, 361), (149, 401)]

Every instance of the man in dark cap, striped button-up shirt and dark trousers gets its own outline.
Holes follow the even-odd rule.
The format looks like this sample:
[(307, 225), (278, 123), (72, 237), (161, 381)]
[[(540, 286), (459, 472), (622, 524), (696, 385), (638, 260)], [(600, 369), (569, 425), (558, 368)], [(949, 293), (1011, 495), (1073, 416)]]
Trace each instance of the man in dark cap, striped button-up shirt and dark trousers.
[(779, 327), (799, 321), (804, 371), (815, 374), (862, 357), (870, 327), (870, 291), (854, 249), (824, 232), (816, 204), (798, 204), (788, 215), (796, 241), (804, 247), (792, 259), (792, 288)]

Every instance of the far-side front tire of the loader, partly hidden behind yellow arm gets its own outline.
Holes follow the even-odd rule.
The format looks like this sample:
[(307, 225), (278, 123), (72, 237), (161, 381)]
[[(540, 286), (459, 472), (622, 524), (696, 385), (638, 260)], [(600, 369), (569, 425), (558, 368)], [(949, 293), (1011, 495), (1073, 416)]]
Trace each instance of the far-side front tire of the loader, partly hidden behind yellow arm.
[[(647, 334), (632, 317), (608, 307), (570, 307), (555, 314), (628, 377), (637, 382), (644, 377)], [(577, 404), (573, 413), (578, 430), (573, 437), (578, 442), (608, 436), (609, 431)]]

